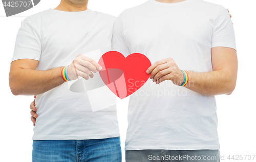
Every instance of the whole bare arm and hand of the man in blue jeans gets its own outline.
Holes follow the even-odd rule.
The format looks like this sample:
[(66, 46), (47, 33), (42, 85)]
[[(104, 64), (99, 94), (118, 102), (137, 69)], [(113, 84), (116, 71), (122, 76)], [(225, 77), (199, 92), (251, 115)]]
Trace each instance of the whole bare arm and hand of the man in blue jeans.
[[(38, 61), (20, 59), (11, 63), (9, 84), (13, 95), (38, 95), (42, 94), (65, 81), (61, 77), (63, 67), (53, 68), (48, 71), (37, 71)], [(78, 76), (88, 80), (93, 78), (93, 73), (101, 71), (102, 67), (93, 59), (78, 55), (68, 67), (68, 76), (76, 80)]]

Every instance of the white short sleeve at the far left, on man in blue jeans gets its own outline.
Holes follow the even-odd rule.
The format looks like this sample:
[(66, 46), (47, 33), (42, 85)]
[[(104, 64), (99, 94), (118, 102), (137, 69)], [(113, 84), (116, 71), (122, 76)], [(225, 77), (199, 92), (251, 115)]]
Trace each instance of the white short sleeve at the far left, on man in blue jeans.
[(40, 33), (29, 19), (22, 21), (16, 37), (12, 61), (18, 59), (40, 60), (41, 38)]

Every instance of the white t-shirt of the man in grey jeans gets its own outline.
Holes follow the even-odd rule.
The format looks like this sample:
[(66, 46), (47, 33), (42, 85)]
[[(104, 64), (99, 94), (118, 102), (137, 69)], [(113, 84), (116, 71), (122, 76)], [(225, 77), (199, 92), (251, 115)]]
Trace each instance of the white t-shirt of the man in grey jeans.
[[(236, 49), (227, 10), (202, 0), (150, 0), (116, 20), (112, 50), (142, 53), (152, 63), (172, 57), (181, 70), (210, 72), (211, 48)], [(219, 149), (214, 96), (203, 96), (172, 81), (148, 80), (131, 95), (125, 150)]]

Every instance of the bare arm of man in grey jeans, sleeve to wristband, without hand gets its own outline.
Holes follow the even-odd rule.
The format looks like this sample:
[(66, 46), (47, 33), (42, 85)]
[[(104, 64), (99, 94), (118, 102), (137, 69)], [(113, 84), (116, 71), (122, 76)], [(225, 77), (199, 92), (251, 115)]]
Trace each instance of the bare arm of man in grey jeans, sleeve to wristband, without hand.
[(211, 49), (212, 72), (187, 72), (190, 84), (188, 89), (202, 95), (230, 95), (237, 82), (237, 51), (230, 48), (215, 47)]

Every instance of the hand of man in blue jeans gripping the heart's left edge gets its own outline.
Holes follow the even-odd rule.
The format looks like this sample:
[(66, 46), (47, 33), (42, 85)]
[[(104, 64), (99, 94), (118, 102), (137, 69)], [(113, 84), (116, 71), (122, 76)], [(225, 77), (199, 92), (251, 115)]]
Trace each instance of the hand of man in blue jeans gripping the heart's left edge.
[(93, 78), (93, 73), (101, 70), (102, 67), (93, 59), (78, 55), (68, 67), (68, 77), (70, 80), (76, 80), (78, 76), (88, 80), (89, 76)]

